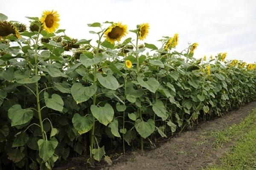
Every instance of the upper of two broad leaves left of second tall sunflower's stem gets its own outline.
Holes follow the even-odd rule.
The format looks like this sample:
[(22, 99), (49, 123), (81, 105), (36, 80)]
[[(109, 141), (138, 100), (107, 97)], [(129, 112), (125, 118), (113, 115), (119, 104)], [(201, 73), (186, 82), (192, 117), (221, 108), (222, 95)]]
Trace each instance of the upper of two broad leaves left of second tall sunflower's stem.
[(90, 99), (93, 94), (97, 91), (96, 85), (91, 85), (89, 87), (83, 87), (81, 83), (74, 83), (71, 87), (71, 94), (75, 99), (76, 103), (85, 102)]

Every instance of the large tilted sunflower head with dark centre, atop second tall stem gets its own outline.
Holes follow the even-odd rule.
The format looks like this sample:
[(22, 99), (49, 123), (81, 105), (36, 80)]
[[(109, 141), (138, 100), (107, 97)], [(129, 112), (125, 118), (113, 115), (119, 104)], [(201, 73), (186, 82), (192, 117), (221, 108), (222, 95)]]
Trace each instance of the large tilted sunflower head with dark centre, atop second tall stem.
[(121, 38), (127, 34), (127, 26), (122, 25), (121, 23), (113, 23), (112, 26), (108, 27), (104, 34), (106, 40), (114, 44), (115, 41), (119, 42)]

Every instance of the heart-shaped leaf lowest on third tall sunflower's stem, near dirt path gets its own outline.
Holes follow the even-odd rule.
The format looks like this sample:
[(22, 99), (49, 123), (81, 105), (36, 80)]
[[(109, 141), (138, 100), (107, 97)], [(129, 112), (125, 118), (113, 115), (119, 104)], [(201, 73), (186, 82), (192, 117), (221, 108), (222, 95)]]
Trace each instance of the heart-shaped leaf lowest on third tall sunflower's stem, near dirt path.
[(141, 119), (137, 119), (135, 122), (135, 128), (137, 132), (140, 134), (140, 136), (146, 139), (154, 132), (154, 120), (148, 119), (147, 122), (143, 122)]

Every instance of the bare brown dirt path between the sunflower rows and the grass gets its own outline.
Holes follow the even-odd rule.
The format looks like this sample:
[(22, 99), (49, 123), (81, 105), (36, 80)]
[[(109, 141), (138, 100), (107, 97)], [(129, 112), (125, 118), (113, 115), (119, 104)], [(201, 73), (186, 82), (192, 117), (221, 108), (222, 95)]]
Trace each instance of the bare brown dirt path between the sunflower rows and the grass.
[(206, 137), (206, 133), (239, 123), (253, 108), (256, 108), (256, 102), (232, 111), (223, 118), (202, 123), (196, 130), (181, 133), (155, 150), (124, 155), (114, 161), (113, 166), (102, 170), (200, 170), (217, 162), (235, 142), (227, 142), (222, 148), (216, 149), (212, 145), (214, 137)]

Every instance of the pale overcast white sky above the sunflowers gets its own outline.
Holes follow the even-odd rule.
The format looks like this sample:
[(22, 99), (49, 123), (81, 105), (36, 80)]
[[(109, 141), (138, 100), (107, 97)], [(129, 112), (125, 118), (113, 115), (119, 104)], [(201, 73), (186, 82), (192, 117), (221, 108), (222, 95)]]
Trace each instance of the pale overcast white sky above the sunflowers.
[[(196, 58), (227, 52), (227, 59), (256, 62), (256, 0), (0, 0), (0, 4), (0, 13), (8, 20), (27, 25), (26, 16), (56, 10), (59, 28), (79, 40), (97, 39), (89, 33), (97, 29), (88, 23), (122, 22), (129, 30), (149, 23), (148, 37), (140, 44), (160, 47), (157, 40), (178, 33), (176, 51), (197, 42)], [(127, 37), (136, 38), (134, 33)]]

